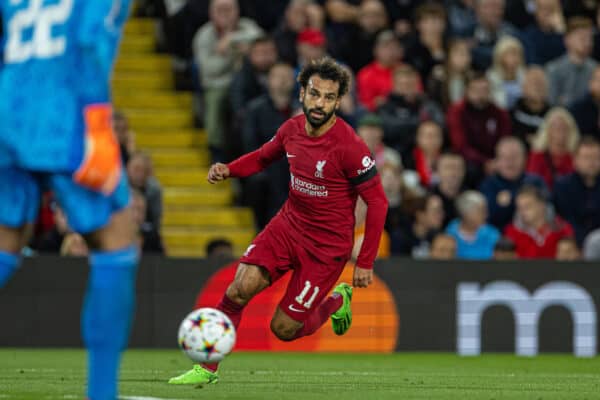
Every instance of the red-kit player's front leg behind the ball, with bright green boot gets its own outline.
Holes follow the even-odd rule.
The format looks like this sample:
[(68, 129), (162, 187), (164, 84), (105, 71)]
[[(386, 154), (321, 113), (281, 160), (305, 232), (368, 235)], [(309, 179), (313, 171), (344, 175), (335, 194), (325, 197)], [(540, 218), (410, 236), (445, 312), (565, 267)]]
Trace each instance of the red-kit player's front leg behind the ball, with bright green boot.
[[(271, 278), (266, 269), (240, 263), (233, 282), (216, 308), (226, 314), (237, 329), (246, 304), (268, 287), (270, 282)], [(172, 385), (216, 383), (219, 380), (217, 368), (218, 364), (194, 365), (191, 370), (169, 379), (169, 383)]]

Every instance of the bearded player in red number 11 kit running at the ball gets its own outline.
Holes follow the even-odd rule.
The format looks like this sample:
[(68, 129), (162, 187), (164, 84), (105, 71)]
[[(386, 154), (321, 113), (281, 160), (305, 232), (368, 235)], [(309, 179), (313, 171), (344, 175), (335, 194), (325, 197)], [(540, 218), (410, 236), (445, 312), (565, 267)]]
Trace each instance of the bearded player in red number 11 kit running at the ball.
[[(287, 157), (289, 198), (254, 239), (217, 309), (239, 325), (244, 306), (292, 270), (286, 293), (275, 310), (271, 330), (289, 341), (311, 335), (329, 317), (333, 330), (350, 328), (352, 287), (338, 285), (327, 296), (350, 259), (354, 209), (367, 204), (365, 238), (355, 263), (353, 286), (373, 280), (373, 262), (387, 213), (387, 200), (367, 146), (335, 111), (348, 90), (349, 76), (330, 58), (306, 65), (298, 76), (304, 113), (287, 120), (260, 149), (230, 164), (216, 163), (208, 181), (247, 177)], [(195, 365), (172, 384), (213, 383), (217, 364)]]

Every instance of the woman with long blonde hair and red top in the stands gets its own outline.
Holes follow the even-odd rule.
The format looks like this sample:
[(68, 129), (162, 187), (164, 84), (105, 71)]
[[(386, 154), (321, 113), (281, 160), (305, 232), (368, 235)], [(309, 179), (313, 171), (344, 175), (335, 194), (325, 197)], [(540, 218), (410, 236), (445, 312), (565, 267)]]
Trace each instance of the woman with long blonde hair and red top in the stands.
[(571, 114), (561, 107), (548, 112), (533, 140), (527, 172), (544, 179), (550, 190), (557, 178), (573, 172), (573, 152), (579, 130)]

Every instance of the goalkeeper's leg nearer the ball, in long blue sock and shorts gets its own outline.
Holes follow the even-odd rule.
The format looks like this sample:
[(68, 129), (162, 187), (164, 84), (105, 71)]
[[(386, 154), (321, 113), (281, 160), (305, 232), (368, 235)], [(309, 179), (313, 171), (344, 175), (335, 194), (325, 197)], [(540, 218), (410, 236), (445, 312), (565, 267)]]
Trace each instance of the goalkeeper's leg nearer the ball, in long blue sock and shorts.
[(55, 175), (49, 181), (69, 225), (84, 235), (92, 249), (81, 320), (88, 350), (88, 398), (114, 400), (135, 307), (139, 258), (136, 225), (127, 207), (127, 180), (123, 176), (109, 196), (74, 183), (68, 175)]

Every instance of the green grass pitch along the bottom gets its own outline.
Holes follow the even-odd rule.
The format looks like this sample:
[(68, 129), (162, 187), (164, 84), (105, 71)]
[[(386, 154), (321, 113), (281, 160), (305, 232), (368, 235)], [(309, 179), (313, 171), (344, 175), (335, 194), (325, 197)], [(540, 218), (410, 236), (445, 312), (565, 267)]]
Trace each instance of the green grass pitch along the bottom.
[[(131, 350), (124, 399), (600, 399), (600, 358), (450, 354), (236, 353), (216, 385), (170, 386), (189, 368), (177, 350)], [(0, 349), (0, 400), (83, 399), (81, 350)]]

